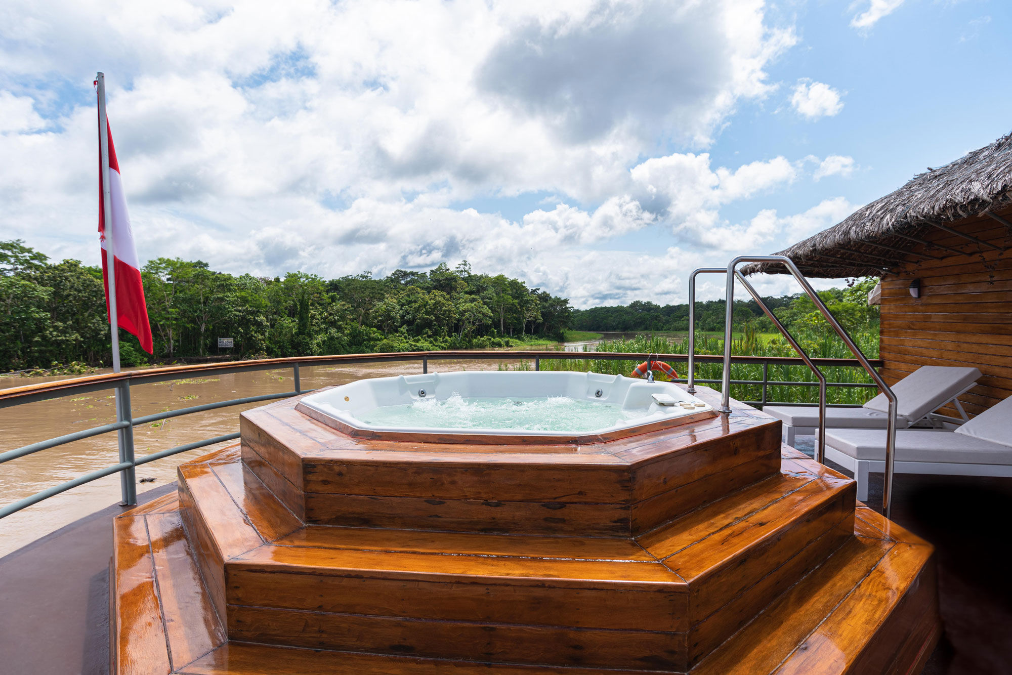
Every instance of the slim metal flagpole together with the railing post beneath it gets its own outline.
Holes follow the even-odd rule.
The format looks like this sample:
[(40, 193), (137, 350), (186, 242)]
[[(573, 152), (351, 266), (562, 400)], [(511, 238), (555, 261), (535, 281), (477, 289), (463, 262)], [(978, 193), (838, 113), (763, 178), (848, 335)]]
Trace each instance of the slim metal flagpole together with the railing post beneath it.
[[(98, 83), (98, 162), (102, 177), (102, 232), (105, 237), (105, 278), (108, 284), (109, 334), (112, 337), (112, 371), (119, 372), (119, 313), (116, 311), (115, 249), (112, 240), (112, 187), (109, 183), (109, 124), (105, 116), (105, 74), (95, 75)], [(116, 387), (116, 421), (133, 418), (128, 416), (124, 406), (130, 405), (130, 385), (125, 382)], [(119, 462), (134, 460), (134, 429), (119, 429)], [(119, 472), (119, 488), (122, 495), (120, 504), (137, 504), (137, 483), (135, 469)]]

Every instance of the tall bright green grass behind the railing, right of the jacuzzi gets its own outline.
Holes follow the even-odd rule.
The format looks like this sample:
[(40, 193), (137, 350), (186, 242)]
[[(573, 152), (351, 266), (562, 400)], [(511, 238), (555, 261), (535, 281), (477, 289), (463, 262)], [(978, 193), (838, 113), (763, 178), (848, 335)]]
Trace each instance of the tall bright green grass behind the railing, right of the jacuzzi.
[[(829, 332), (817, 331), (813, 329), (800, 329), (794, 331), (794, 338), (798, 344), (813, 358), (853, 358), (853, 354), (846, 345)], [(861, 348), (868, 358), (878, 358), (878, 332), (876, 330), (866, 330), (852, 334), (851, 337)], [(705, 335), (696, 334), (697, 354), (724, 354), (724, 340)], [(656, 354), (677, 354), (685, 352), (685, 344), (682, 340), (670, 337), (640, 335), (631, 339), (602, 340), (596, 345), (584, 345), (585, 352), (601, 351), (616, 353), (656, 353)], [(740, 338), (731, 343), (731, 353), (735, 356), (777, 356), (796, 357), (797, 352), (782, 338), (771, 340), (760, 339), (760, 335), (746, 327), (740, 333)], [(639, 361), (604, 361), (586, 359), (541, 359), (542, 370), (578, 370), (586, 372), (603, 372), (608, 374), (628, 375), (632, 368), (639, 365)], [(682, 377), (686, 375), (687, 362), (672, 362), (671, 366), (678, 371)], [(807, 365), (773, 365), (768, 367), (768, 379), (770, 382), (811, 382), (818, 379)], [(761, 364), (753, 363), (732, 363), (732, 379), (756, 381), (755, 385), (732, 385), (731, 396), (739, 401), (761, 401), (762, 400), (762, 368)], [(699, 363), (696, 362), (696, 382), (700, 379), (720, 381), (723, 374), (723, 364), (721, 363)], [(828, 383), (867, 383), (871, 377), (858, 366), (832, 366), (823, 368)], [(658, 379), (666, 379), (663, 375), (658, 375)], [(707, 387), (720, 391), (721, 385), (707, 384)], [(827, 388), (826, 399), (831, 404), (862, 404), (875, 396), (877, 391), (874, 388), (863, 387), (829, 387)], [(817, 386), (805, 385), (776, 385), (769, 386), (767, 390), (767, 402), (769, 403), (819, 403), (819, 388)]]

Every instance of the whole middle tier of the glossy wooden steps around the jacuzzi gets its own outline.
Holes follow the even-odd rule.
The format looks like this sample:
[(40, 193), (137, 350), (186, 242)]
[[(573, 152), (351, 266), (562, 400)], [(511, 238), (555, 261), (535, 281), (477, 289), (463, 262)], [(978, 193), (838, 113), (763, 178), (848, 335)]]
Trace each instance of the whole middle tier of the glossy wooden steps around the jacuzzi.
[(301, 526), (251, 474), (180, 468), (183, 511), (229, 637), (291, 647), (684, 670), (853, 531), (800, 470), (639, 540)]

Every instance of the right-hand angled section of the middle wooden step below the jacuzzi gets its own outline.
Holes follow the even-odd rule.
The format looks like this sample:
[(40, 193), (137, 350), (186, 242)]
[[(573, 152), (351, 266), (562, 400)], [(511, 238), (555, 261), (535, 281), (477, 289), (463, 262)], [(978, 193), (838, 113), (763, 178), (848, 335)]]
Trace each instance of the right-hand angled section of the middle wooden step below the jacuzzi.
[(640, 536), (685, 580), (691, 666), (852, 536), (854, 484), (781, 474)]

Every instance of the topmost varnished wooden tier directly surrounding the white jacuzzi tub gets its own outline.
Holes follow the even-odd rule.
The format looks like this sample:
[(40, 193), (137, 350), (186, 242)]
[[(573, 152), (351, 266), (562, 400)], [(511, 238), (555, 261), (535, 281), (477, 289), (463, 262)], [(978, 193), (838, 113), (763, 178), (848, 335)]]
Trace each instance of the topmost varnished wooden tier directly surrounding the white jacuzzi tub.
[[(696, 395), (710, 405), (720, 396)], [(628, 537), (779, 470), (780, 422), (731, 415), (589, 444), (356, 438), (296, 410), (242, 414), (244, 461), (312, 524)]]

